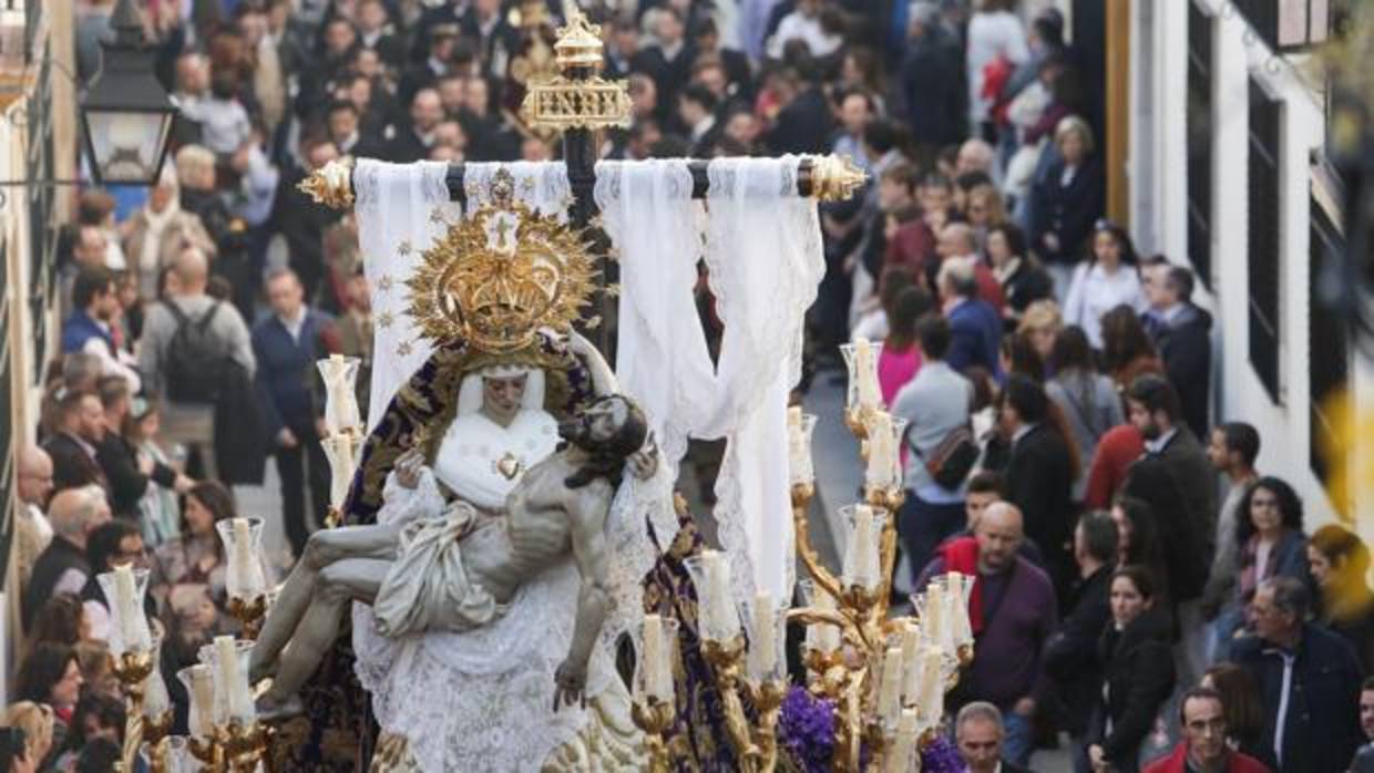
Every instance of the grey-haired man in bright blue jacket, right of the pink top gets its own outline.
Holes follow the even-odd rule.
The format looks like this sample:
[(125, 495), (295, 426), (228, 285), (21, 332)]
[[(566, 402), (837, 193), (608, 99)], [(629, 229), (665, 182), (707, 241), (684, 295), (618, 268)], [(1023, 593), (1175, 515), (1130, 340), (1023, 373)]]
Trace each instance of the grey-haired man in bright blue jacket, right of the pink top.
[[(945, 229), (967, 228), (951, 224)], [(949, 239), (941, 233), (941, 242)], [(940, 301), (944, 303), (945, 319), (949, 320), (949, 353), (945, 362), (960, 373), (977, 365), (995, 378), (1000, 375), (998, 365), (998, 341), (1002, 338), (1002, 320), (991, 303), (978, 298), (978, 280), (974, 259), (969, 257), (947, 257), (940, 265), (936, 284)]]

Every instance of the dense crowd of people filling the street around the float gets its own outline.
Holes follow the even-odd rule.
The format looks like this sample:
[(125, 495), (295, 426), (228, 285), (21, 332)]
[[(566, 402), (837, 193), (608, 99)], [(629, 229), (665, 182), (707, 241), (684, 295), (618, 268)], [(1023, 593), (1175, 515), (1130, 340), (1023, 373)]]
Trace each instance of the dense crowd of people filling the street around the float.
[[(114, 1), (77, 5), (89, 81)], [(63, 357), (41, 445), (16, 454), (25, 638), (0, 770), (113, 768), (96, 574), (151, 573), (170, 677), (235, 630), (214, 533), (232, 486), (271, 456), (295, 555), (320, 524), (315, 361), (359, 357), (367, 405), (386, 323), (352, 216), (297, 184), (345, 155), (559, 155), (515, 110), (558, 3), (139, 5), (181, 114), (157, 185), (87, 188), (60, 249)], [(822, 205), (802, 391), (844, 378), (840, 345), (882, 342), (882, 400), (908, 423), (899, 585), (978, 577), (978, 656), (948, 706), (969, 770), (1025, 769), (1057, 730), (1094, 773), (1374, 770), (1356, 757), (1374, 736), (1369, 549), (1309, 533), (1293, 486), (1256, 470), (1256, 430), (1212, 416), (1197, 280), (1103, 217), (1102, 63), (1055, 5), (584, 3), (632, 102), (599, 152), (840, 152), (870, 174)]]

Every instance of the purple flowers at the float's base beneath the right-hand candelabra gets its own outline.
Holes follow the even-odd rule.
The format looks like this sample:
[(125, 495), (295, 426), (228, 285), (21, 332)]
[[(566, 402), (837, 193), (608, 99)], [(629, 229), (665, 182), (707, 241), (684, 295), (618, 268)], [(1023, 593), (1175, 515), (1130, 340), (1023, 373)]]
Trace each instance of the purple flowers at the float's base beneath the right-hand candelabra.
[[(835, 752), (835, 704), (793, 685), (782, 702), (778, 737), (791, 765), (785, 770), (826, 773)], [(940, 735), (921, 752), (922, 773), (962, 773), (963, 759), (948, 737)]]

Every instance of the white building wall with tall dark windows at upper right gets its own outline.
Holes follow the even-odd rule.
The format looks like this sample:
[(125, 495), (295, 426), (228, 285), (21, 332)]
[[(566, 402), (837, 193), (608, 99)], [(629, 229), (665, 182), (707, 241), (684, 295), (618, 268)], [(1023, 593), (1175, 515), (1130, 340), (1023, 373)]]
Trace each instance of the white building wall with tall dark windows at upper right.
[[(1325, 137), (1322, 96), (1304, 81), (1301, 60), (1275, 55), (1228, 0), (1189, 0), (1212, 34), (1213, 291), (1194, 301), (1213, 324), (1213, 416), (1245, 420), (1263, 438), (1259, 467), (1293, 483), (1314, 529), (1336, 519), (1323, 481), (1309, 461), (1308, 387), (1309, 158)], [(1187, 3), (1134, 3), (1131, 225), (1142, 253), (1164, 253), (1187, 265)], [(1248, 154), (1249, 78), (1281, 103), (1279, 191), (1279, 395), (1271, 398), (1249, 361)], [(1374, 390), (1374, 367), (1352, 364), (1352, 390)], [(1371, 402), (1374, 405), (1374, 402)], [(1355, 460), (1352, 460), (1352, 464)], [(1371, 503), (1359, 501), (1366, 511)], [(1370, 515), (1374, 515), (1371, 512)], [(1369, 522), (1370, 519), (1360, 519)], [(1374, 537), (1374, 530), (1364, 534)]]

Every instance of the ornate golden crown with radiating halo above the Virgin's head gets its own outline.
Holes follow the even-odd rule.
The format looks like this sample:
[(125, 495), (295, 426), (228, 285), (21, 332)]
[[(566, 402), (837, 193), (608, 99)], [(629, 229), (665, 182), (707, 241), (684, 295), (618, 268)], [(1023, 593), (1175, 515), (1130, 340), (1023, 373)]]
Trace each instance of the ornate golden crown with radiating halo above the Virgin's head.
[(588, 305), (596, 270), (581, 235), (511, 188), (493, 180), (492, 203), (422, 253), (407, 286), (423, 336), (508, 354), (534, 346), (540, 328), (566, 332)]

